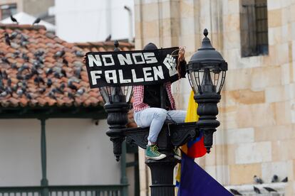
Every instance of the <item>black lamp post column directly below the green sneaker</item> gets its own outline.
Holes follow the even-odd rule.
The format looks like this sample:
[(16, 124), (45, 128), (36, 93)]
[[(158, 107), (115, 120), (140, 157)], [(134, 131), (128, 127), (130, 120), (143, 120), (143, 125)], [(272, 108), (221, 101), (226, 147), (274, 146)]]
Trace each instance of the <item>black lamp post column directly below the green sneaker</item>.
[(152, 196), (175, 196), (175, 185), (173, 185), (173, 171), (178, 160), (167, 157), (162, 160), (146, 160), (145, 164), (150, 168), (152, 185), (150, 193)]

